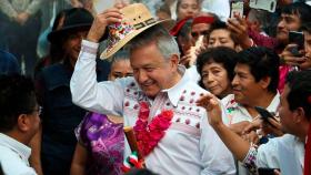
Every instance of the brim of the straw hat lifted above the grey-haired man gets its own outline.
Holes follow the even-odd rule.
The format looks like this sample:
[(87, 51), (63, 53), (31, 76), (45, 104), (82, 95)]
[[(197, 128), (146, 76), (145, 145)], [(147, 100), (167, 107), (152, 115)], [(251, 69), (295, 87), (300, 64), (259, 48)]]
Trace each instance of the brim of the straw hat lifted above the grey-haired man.
[(100, 59), (104, 60), (110, 58), (112, 54), (114, 54), (117, 51), (119, 51), (122, 47), (124, 47), (130, 40), (132, 40), (134, 37), (137, 37), (138, 34), (140, 34), (141, 32), (143, 32), (144, 30), (156, 25), (156, 24), (163, 24), (163, 27), (170, 31), (170, 29), (173, 28), (174, 25), (174, 21), (173, 20), (161, 20), (161, 21), (157, 21), (150, 25), (147, 25), (144, 28), (141, 28), (139, 30), (136, 30), (131, 33), (129, 33), (127, 37), (124, 37), (122, 40), (120, 40), (118, 43), (116, 43), (109, 51), (108, 49), (106, 49), (101, 54), (100, 54)]

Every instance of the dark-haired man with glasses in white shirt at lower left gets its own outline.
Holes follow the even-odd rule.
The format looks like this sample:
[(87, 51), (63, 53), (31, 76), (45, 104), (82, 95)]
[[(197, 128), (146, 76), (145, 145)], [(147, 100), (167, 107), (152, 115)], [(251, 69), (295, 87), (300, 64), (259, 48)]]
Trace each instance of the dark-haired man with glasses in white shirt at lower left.
[(34, 175), (27, 146), (40, 124), (34, 84), (22, 75), (1, 75), (0, 94), (1, 168), (9, 175)]

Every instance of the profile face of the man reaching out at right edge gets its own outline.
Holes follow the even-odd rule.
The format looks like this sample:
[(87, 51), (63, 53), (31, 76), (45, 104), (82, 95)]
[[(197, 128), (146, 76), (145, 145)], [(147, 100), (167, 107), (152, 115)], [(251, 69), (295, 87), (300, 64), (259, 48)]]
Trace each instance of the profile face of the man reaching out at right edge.
[(293, 115), (294, 113), (290, 111), (289, 102), (288, 102), (288, 95), (290, 92), (290, 87), (285, 85), (284, 91), (281, 94), (281, 100), (280, 104), (278, 107), (279, 116), (280, 116), (280, 122), (282, 125), (282, 131), (285, 133), (291, 133), (293, 131)]

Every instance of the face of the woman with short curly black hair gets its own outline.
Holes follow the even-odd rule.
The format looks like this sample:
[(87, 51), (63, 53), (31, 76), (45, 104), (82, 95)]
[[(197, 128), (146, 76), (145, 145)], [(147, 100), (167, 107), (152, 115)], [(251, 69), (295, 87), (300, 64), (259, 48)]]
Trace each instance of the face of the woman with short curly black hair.
[(207, 63), (202, 68), (202, 78), (205, 89), (212, 94), (224, 97), (231, 91), (231, 82), (227, 70), (221, 63)]

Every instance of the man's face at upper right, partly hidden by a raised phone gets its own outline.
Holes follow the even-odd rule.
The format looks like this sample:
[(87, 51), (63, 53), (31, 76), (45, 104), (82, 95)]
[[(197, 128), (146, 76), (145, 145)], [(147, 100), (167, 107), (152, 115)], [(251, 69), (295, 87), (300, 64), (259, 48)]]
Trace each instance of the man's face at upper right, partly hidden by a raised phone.
[(300, 19), (297, 14), (281, 14), (280, 22), (277, 27), (277, 39), (281, 43), (289, 42), (289, 31), (298, 31), (300, 28)]

